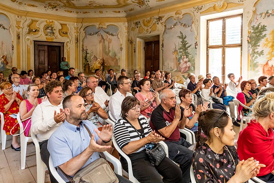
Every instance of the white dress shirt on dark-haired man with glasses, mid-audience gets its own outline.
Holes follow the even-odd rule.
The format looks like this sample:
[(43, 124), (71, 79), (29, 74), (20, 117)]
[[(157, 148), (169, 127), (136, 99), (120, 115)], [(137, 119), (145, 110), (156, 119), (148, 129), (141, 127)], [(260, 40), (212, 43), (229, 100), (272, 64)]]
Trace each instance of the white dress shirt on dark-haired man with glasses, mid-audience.
[[(126, 93), (127, 96), (133, 96), (130, 92)], [(114, 116), (115, 120), (119, 119), (121, 115), (121, 105), (123, 100), (125, 99), (125, 95), (121, 94), (119, 89), (114, 93), (108, 103), (108, 108), (111, 114)]]

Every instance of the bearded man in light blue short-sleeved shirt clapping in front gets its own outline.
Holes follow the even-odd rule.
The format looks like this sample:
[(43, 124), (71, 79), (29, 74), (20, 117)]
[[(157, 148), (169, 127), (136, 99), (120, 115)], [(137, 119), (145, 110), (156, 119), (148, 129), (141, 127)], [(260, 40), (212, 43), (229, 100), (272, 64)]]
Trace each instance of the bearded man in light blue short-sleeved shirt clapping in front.
[[(71, 177), (78, 170), (99, 159), (98, 152), (111, 152), (111, 125), (104, 125), (99, 132), (93, 123), (83, 120), (86, 118), (84, 103), (84, 99), (77, 95), (69, 95), (64, 99), (65, 122), (51, 135), (47, 145), (54, 167), (59, 167)], [(87, 128), (92, 134), (91, 137)], [(64, 181), (69, 181), (64, 174), (59, 171), (58, 173)], [(120, 175), (116, 176), (119, 182), (130, 182)]]

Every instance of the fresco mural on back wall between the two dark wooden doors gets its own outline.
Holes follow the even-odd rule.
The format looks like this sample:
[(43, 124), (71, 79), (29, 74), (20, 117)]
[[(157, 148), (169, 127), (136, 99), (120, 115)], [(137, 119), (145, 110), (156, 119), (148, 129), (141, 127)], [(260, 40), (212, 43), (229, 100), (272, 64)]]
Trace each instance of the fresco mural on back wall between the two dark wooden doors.
[(120, 70), (120, 39), (118, 27), (109, 25), (106, 29), (89, 26), (85, 29), (86, 38), (83, 41), (83, 67), (86, 72), (94, 73), (95, 69)]

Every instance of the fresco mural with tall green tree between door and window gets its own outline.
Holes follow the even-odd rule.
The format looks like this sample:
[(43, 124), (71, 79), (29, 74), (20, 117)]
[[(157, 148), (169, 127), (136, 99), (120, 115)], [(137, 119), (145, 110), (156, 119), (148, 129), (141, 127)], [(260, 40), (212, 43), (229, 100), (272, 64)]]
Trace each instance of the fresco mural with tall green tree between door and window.
[(195, 33), (190, 14), (167, 19), (163, 45), (163, 70), (179, 76), (195, 72)]

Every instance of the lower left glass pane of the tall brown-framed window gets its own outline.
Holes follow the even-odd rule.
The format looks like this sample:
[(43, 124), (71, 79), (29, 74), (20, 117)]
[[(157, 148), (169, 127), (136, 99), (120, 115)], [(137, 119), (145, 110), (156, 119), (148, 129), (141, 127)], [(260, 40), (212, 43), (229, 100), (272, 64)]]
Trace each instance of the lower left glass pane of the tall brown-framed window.
[(209, 49), (209, 73), (217, 76), (222, 83), (222, 48)]

